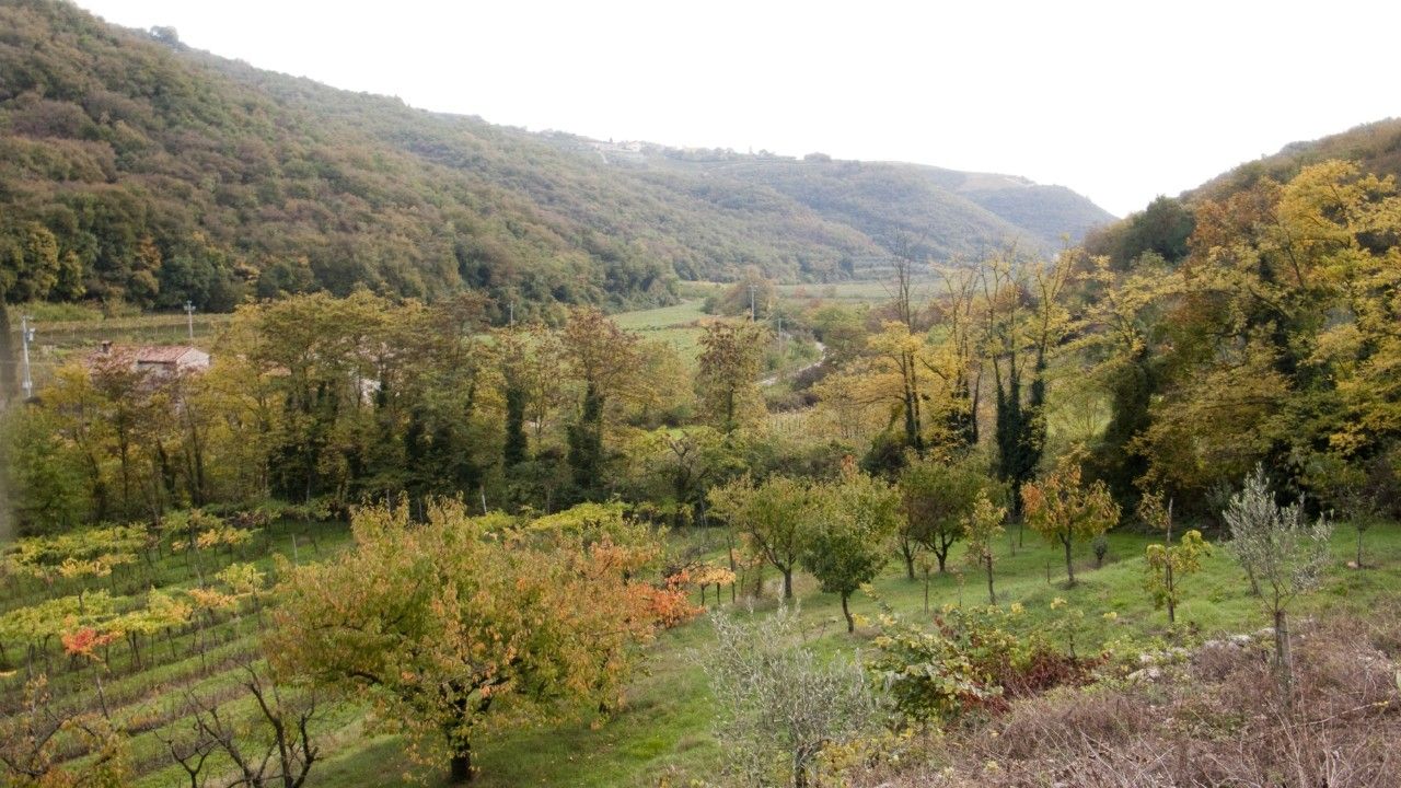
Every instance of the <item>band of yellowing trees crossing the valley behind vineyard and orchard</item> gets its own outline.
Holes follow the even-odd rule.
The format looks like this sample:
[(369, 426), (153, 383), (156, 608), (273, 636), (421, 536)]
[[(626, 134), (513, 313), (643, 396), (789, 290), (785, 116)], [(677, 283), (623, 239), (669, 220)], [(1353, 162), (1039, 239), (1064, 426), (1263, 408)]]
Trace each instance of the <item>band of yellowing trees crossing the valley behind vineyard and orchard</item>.
[(401, 491), (539, 510), (622, 496), (692, 522), (706, 489), (741, 473), (824, 475), (849, 454), (894, 475), (911, 456), (971, 456), (1012, 492), (1075, 454), (1126, 505), (1153, 491), (1178, 512), (1219, 510), (1264, 463), (1320, 506), (1390, 508), (1394, 181), (1331, 161), (1188, 219), (1161, 224), (1189, 227), (1185, 240), (1126, 265), (1009, 252), (922, 290), (906, 259), (887, 304), (796, 304), (789, 331), (822, 341), (827, 360), (783, 400), (815, 402), (785, 433), (758, 384), (778, 341), (762, 324), (710, 324), (692, 366), (593, 308), (559, 330), (490, 330), (479, 294), (244, 306), (203, 374), (59, 373), (11, 419), (13, 494), (41, 531)]

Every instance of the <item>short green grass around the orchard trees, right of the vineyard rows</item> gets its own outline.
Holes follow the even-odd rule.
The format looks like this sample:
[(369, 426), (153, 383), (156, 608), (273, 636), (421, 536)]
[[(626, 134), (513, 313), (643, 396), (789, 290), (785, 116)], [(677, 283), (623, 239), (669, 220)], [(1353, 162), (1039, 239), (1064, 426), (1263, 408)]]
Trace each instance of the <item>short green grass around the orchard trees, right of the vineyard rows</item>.
[[(1324, 610), (1365, 613), (1370, 602), (1395, 593), (1401, 582), (1401, 529), (1387, 526), (1369, 533), (1370, 564), (1362, 572), (1344, 569), (1352, 555), (1355, 534), (1339, 529), (1334, 540), (1337, 566), (1324, 586), (1297, 603), (1297, 614)], [(1049, 603), (1065, 597), (1084, 611), (1077, 637), (1084, 644), (1132, 637), (1150, 639), (1167, 634), (1166, 614), (1153, 610), (1142, 590), (1142, 551), (1146, 537), (1132, 533), (1111, 536), (1111, 552), (1104, 568), (1093, 569), (1087, 548), (1079, 551), (1077, 573), (1082, 583), (1063, 587), (1065, 566), (1059, 551), (1034, 541), (1027, 534), (1026, 547), (1010, 555), (1010, 545), (999, 551), (999, 596), (1003, 603), (1026, 606), (1030, 625), (1052, 620)], [(961, 550), (955, 548), (955, 555)], [(1052, 582), (1047, 582), (1047, 566)], [(771, 572), (771, 578), (773, 573)], [(894, 564), (876, 583), (891, 606), (906, 616), (922, 617), (923, 586), (909, 582)], [(1187, 600), (1180, 609), (1182, 621), (1203, 635), (1254, 631), (1267, 624), (1258, 602), (1248, 597), (1244, 575), (1224, 550), (1209, 558), (1201, 575), (1187, 579)], [(839, 607), (831, 595), (817, 593), (810, 579), (799, 583), (801, 609), (821, 648), (864, 648), (873, 635), (862, 627), (855, 637), (842, 631)], [(981, 578), (969, 575), (960, 587), (954, 576), (936, 576), (930, 604), (985, 602)], [(771, 609), (771, 599), (759, 603)], [(870, 616), (874, 604), (855, 600), (857, 614)], [(1107, 620), (1104, 613), (1115, 613)], [(583, 719), (552, 729), (511, 733), (481, 749), (482, 787), (504, 785), (656, 785), (670, 777), (672, 784), (685, 778), (703, 778), (717, 768), (723, 753), (709, 732), (706, 683), (698, 662), (712, 648), (710, 627), (702, 618), (667, 632), (653, 646), (650, 669), (639, 676), (629, 694), (630, 705), (616, 718), (594, 728)], [(340, 785), (409, 785), (401, 775), (409, 768), (402, 756), (403, 743), (392, 736), (371, 739), (322, 764), (311, 781), (317, 787)], [(443, 784), (441, 774), (432, 774), (429, 785)]]

